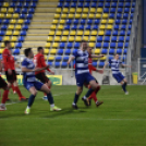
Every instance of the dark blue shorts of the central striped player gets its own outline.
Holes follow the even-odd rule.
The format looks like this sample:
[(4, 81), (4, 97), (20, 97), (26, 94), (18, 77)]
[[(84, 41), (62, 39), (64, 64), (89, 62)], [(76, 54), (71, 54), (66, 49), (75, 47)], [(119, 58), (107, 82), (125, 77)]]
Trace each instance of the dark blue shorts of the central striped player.
[(88, 84), (90, 81), (95, 81), (95, 77), (90, 73), (78, 74), (76, 77), (76, 85), (83, 87), (84, 83)]

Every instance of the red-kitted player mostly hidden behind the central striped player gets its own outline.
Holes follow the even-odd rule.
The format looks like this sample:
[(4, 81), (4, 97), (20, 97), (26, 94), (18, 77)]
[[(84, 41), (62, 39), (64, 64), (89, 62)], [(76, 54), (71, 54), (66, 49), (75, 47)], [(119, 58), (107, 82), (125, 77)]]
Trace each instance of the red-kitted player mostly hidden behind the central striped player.
[[(88, 51), (88, 53), (89, 53), (89, 56), (90, 56), (90, 54), (92, 54), (92, 48), (88, 47), (87, 51)], [(90, 57), (88, 58), (88, 69), (89, 69), (89, 73), (90, 73), (90, 74), (93, 73), (93, 71), (96, 71), (96, 72), (98, 72), (98, 73), (104, 73), (102, 70), (98, 70), (98, 69), (96, 69), (96, 68), (93, 65), (93, 59), (92, 59)], [(97, 82), (97, 81), (96, 81), (96, 82)], [(97, 82), (97, 84), (98, 84), (98, 82)], [(88, 88), (89, 88), (89, 87), (88, 87)], [(96, 104), (97, 107), (102, 104), (102, 101), (98, 101), (98, 99), (97, 99), (97, 97), (96, 97), (96, 94), (97, 94), (99, 90), (100, 90), (100, 86), (98, 86), (98, 87), (93, 92), (93, 94), (88, 97), (89, 105), (90, 105), (90, 100), (92, 100), (92, 99), (95, 100), (95, 104)]]

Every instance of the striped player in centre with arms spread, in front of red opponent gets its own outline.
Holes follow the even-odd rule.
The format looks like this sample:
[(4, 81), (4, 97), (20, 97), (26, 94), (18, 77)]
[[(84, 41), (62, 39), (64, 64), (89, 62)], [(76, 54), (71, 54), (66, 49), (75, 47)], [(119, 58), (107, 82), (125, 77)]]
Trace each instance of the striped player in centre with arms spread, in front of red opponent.
[(72, 107), (74, 109), (78, 109), (76, 106), (76, 102), (78, 100), (80, 95), (83, 92), (83, 85), (86, 83), (90, 86), (90, 89), (86, 93), (86, 95), (82, 98), (82, 100), (85, 102), (86, 106), (88, 106), (87, 98), (92, 95), (92, 93), (99, 86), (96, 84), (95, 78), (90, 75), (88, 70), (88, 58), (100, 58), (101, 56), (96, 54), (88, 54), (87, 52), (87, 42), (85, 40), (82, 40), (81, 48), (69, 59), (68, 64), (72, 60), (75, 60), (75, 77), (76, 77), (76, 85), (77, 90), (75, 93), (74, 101), (72, 104)]

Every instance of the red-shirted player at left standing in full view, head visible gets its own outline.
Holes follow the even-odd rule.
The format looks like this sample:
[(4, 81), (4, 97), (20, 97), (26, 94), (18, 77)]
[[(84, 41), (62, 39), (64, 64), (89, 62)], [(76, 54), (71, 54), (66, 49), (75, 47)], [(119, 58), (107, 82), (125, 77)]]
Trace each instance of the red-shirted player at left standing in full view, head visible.
[(5, 45), (5, 49), (2, 53), (2, 58), (3, 58), (3, 65), (4, 65), (8, 85), (14, 86), (14, 89), (20, 97), (20, 100), (27, 100), (27, 98), (25, 98), (22, 95), (22, 93), (17, 86), (17, 83), (16, 83), (15, 61), (14, 61), (14, 57), (11, 54), (11, 50), (10, 50), (11, 42), (7, 40), (7, 41), (4, 41), (4, 45)]

